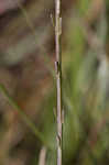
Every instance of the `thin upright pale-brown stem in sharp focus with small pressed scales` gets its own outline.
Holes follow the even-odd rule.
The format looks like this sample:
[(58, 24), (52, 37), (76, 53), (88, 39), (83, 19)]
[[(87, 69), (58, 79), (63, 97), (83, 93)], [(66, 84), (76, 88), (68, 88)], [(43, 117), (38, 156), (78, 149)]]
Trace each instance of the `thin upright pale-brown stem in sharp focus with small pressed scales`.
[(61, 53), (62, 18), (61, 0), (55, 0), (55, 51), (56, 51), (56, 90), (57, 90), (57, 165), (63, 157), (63, 119), (62, 119), (62, 53)]

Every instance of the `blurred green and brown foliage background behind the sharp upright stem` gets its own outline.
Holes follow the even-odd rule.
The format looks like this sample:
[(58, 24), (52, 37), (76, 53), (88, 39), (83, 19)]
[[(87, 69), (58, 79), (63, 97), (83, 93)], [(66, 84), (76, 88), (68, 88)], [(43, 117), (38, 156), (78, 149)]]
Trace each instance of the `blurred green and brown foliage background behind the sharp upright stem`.
[[(109, 2), (62, 3), (63, 165), (107, 165)], [(26, 0), (0, 21), (0, 82), (40, 131), (0, 94), (0, 164), (56, 165), (54, 2)]]

